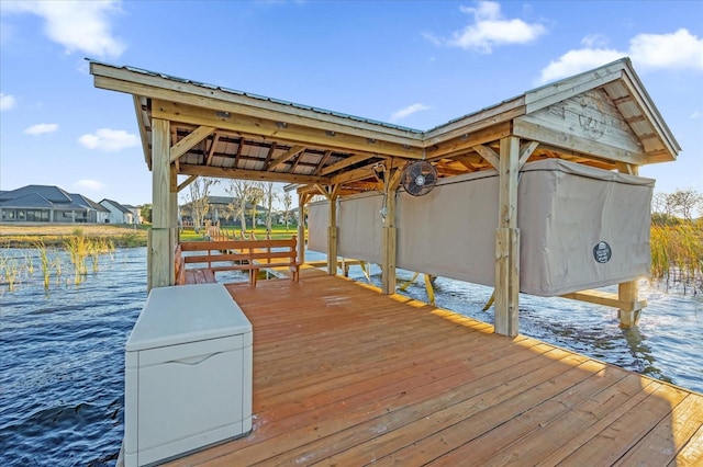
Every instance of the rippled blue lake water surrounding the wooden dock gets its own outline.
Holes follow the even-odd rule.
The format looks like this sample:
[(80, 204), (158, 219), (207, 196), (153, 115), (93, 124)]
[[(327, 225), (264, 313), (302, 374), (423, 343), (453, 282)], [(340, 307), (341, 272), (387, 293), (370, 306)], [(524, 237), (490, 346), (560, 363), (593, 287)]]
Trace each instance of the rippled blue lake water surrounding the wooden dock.
[[(124, 344), (146, 298), (146, 249), (102, 257), (79, 285), (62, 262), (48, 293), (38, 271), (14, 292), (0, 285), (0, 466), (112, 466), (120, 449)], [(358, 267), (352, 274), (365, 281)], [(438, 306), (493, 321), (492, 309), (481, 311), (490, 288), (443, 277), (435, 285)], [(640, 291), (649, 307), (637, 330), (622, 331), (611, 308), (521, 296), (521, 331), (703, 392), (703, 299)], [(424, 284), (406, 295), (426, 300)]]

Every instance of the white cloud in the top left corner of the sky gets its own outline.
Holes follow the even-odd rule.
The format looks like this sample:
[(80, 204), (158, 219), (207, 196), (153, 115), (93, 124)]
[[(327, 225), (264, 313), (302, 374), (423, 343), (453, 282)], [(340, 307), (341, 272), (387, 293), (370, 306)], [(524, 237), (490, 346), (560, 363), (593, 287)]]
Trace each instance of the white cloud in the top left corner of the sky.
[(31, 13), (45, 21), (46, 36), (63, 45), (66, 54), (76, 50), (97, 57), (116, 58), (125, 45), (111, 32), (109, 16), (121, 12), (113, 0), (93, 1), (5, 1), (3, 13)]

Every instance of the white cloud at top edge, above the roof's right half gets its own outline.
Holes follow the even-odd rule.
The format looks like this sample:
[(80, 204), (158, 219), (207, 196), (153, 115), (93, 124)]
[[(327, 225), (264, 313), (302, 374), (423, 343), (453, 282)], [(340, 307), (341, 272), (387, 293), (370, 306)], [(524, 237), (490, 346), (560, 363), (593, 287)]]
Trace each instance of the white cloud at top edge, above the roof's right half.
[(438, 39), (429, 34), (424, 36), (434, 44), (490, 54), (495, 46), (526, 44), (547, 32), (545, 26), (538, 23), (503, 18), (498, 2), (479, 1), (476, 8), (460, 7), (460, 10), (473, 15), (471, 24), (456, 31), (449, 39)]

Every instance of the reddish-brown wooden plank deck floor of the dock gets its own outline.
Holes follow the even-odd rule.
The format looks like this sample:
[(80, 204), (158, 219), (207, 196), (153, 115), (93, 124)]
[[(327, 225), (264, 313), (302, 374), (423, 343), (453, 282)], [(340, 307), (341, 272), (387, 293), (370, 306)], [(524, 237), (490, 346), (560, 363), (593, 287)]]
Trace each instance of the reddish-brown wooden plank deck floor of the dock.
[(703, 465), (703, 395), (304, 269), (227, 285), (254, 430), (171, 466)]

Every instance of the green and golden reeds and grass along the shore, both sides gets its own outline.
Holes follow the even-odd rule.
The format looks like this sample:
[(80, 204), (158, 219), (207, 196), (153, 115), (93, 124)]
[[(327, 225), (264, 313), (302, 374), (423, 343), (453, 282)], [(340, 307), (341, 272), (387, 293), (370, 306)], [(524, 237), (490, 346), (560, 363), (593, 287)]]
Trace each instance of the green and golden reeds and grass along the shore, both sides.
[[(658, 283), (665, 291), (670, 288), (685, 294), (703, 293), (703, 218), (696, 220), (663, 219), (655, 217), (650, 231), (651, 247), (651, 282)], [(0, 225), (0, 285), (9, 285), (12, 289), (13, 277), (26, 269), (33, 272), (32, 257), (18, 264), (15, 259), (8, 259), (2, 250), (11, 248), (34, 249), (38, 252), (40, 267), (45, 276), (45, 288), (48, 286), (47, 275), (51, 270), (60, 271), (60, 264), (52, 263), (47, 251), (63, 249), (70, 255), (74, 265), (75, 282), (87, 274), (86, 259), (92, 260), (93, 272), (98, 270), (101, 254), (112, 253), (115, 248), (146, 247), (149, 226), (115, 225)], [(224, 235), (235, 235), (232, 228)], [(265, 229), (254, 231), (256, 238), (266, 238)], [(297, 234), (294, 227), (274, 226), (271, 238), (290, 238)], [(192, 228), (181, 229), (181, 240), (205, 240), (207, 231), (194, 231)], [(56, 273), (56, 271), (55, 271)], [(58, 273), (60, 275), (60, 272)]]

